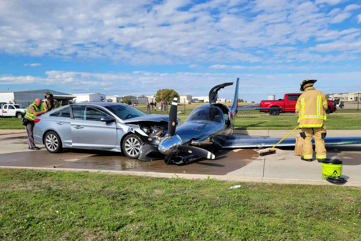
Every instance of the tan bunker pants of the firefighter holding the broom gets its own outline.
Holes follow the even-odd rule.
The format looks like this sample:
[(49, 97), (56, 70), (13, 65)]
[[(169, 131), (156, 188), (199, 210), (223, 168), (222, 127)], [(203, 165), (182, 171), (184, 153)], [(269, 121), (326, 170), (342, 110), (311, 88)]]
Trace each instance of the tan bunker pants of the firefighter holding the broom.
[(315, 139), (316, 159), (326, 158), (325, 140), (326, 126), (313, 128), (300, 128), (300, 135), (303, 138), (303, 158), (313, 158), (312, 136)]

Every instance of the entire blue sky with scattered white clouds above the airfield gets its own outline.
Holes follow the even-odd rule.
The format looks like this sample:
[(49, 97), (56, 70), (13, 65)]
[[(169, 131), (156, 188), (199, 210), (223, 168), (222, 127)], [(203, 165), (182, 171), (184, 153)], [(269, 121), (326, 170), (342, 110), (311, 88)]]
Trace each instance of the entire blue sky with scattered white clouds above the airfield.
[[(360, 91), (360, 0), (0, 1), (0, 90)], [(220, 98), (231, 98), (232, 88)]]

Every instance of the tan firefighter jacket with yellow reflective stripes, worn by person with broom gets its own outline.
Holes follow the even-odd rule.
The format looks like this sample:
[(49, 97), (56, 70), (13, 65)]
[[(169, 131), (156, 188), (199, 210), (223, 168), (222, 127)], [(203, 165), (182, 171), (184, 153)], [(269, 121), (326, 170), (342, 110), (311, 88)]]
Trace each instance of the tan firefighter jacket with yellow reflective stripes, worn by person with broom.
[(327, 100), (325, 95), (309, 87), (297, 100), (296, 115), (300, 127), (321, 127), (326, 120)]

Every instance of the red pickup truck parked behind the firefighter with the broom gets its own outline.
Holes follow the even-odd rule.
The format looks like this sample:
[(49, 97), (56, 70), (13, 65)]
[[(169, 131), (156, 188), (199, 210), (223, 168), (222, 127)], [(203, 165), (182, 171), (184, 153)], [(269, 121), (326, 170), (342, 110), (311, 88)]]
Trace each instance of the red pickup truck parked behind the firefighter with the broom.
[[(295, 112), (297, 99), (300, 97), (300, 93), (296, 94), (285, 94), (283, 99), (279, 100), (261, 100), (260, 107), (281, 107), (283, 109), (271, 109), (271, 110), (260, 110), (260, 112), (269, 112), (270, 115), (278, 116), (280, 112)], [(336, 102), (333, 100), (327, 100), (328, 108), (327, 114), (336, 111)]]

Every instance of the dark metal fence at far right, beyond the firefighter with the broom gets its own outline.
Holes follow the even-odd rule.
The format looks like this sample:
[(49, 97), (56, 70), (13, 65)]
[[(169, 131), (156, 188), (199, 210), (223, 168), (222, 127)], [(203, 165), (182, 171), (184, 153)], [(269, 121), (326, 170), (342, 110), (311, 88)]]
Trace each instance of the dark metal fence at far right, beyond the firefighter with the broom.
[(326, 94), (327, 100), (336, 102), (337, 111), (361, 110), (361, 92)]

